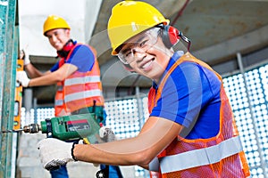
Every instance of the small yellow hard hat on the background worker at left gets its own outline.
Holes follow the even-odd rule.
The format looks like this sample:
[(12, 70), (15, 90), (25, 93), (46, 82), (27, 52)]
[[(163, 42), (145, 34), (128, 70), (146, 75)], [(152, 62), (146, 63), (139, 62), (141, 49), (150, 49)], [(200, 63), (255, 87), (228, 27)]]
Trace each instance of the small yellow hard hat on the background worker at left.
[(56, 15), (49, 15), (43, 26), (43, 34), (46, 36), (46, 32), (51, 29), (56, 28), (67, 28), (71, 29), (66, 20), (63, 20), (62, 17)]

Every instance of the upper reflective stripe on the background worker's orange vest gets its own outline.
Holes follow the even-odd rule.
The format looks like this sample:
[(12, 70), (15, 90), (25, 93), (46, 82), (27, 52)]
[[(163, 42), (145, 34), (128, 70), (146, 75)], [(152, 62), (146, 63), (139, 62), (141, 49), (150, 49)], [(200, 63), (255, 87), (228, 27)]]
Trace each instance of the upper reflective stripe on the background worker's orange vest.
[(100, 82), (99, 76), (66, 78), (64, 85), (68, 86), (68, 85), (78, 85), (78, 84), (95, 83), (95, 82)]

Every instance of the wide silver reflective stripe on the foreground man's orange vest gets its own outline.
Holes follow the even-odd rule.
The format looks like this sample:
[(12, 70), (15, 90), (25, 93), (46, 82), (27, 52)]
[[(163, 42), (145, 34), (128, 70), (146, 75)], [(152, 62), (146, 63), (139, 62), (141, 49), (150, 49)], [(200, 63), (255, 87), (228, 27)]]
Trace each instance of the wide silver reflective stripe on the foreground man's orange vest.
[(208, 148), (191, 150), (178, 155), (160, 158), (161, 172), (165, 174), (218, 163), (223, 158), (238, 154), (242, 150), (243, 148), (239, 136), (232, 137)]

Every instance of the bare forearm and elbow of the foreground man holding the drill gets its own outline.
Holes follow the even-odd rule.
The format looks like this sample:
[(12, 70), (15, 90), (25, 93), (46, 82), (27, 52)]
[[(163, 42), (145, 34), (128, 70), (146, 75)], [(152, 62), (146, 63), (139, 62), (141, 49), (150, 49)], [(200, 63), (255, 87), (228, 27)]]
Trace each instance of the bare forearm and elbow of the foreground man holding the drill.
[(161, 117), (149, 117), (134, 138), (92, 145), (75, 145), (73, 155), (90, 163), (147, 166), (180, 133), (182, 126)]

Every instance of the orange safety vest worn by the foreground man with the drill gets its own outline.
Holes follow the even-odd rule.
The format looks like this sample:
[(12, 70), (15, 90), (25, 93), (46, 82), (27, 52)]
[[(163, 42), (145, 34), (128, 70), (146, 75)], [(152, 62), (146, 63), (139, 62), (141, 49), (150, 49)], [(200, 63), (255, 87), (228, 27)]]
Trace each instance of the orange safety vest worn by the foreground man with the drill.
[[(167, 78), (183, 61), (192, 61), (212, 70), (222, 81), (222, 77), (205, 62), (186, 53), (176, 61), (159, 85), (157, 93), (151, 88), (148, 96), (149, 112), (160, 98)], [(209, 139), (188, 140), (178, 136), (160, 153), (159, 172), (151, 172), (151, 177), (247, 177), (250, 175), (245, 153), (239, 140), (239, 132), (230, 108), (230, 102), (221, 88), (220, 131)]]

